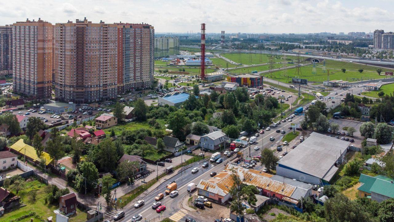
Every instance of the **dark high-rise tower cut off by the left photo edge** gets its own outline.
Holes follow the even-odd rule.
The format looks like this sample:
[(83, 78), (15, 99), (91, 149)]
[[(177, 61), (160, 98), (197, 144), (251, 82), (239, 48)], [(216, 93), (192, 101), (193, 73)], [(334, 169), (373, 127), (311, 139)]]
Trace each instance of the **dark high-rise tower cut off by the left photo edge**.
[(0, 26), (0, 75), (12, 74), (12, 26)]

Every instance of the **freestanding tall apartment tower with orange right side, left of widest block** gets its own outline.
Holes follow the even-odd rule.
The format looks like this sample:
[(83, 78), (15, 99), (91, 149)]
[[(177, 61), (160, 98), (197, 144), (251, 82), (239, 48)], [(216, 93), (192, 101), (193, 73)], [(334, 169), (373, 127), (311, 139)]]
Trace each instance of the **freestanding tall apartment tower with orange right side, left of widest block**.
[(52, 24), (40, 18), (12, 25), (14, 91), (37, 98), (51, 97), (52, 39)]

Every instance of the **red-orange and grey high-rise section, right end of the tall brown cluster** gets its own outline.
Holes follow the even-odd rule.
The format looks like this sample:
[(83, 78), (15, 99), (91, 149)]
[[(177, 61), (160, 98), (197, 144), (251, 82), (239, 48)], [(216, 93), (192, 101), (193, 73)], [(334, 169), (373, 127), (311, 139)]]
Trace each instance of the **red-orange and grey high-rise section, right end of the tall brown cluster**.
[[(154, 28), (149, 24), (117, 25), (117, 92), (150, 88), (154, 73)], [(179, 43), (178, 43), (179, 47)]]

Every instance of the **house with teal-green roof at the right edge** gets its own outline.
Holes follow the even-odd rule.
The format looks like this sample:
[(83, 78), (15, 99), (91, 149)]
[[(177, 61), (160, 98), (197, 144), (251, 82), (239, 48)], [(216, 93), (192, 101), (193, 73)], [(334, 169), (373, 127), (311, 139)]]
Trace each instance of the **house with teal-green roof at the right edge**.
[(359, 190), (359, 197), (371, 198), (377, 202), (382, 202), (385, 199), (394, 198), (394, 179), (377, 175), (371, 177), (365, 174), (360, 175), (359, 182), (361, 186)]

